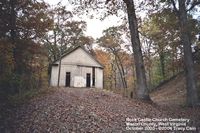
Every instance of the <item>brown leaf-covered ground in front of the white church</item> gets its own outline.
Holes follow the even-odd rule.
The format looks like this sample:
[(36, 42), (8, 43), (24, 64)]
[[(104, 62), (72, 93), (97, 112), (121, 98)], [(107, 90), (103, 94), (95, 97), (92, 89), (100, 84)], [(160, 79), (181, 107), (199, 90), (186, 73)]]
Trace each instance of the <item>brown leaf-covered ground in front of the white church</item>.
[[(59, 88), (8, 111), (0, 132), (126, 132), (130, 118), (189, 118), (200, 127), (200, 109), (158, 106), (97, 90)], [(199, 130), (200, 131), (200, 130)], [(130, 131), (133, 132), (133, 131)], [(198, 132), (198, 131), (196, 131)]]

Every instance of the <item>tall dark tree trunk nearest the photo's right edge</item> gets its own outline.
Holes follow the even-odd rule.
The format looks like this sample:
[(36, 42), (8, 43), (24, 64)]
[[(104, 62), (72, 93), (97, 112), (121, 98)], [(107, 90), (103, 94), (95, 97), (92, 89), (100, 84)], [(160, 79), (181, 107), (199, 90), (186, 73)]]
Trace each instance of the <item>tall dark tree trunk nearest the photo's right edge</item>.
[(181, 29), (181, 41), (184, 49), (184, 64), (186, 75), (187, 102), (194, 107), (198, 104), (197, 85), (194, 72), (194, 61), (192, 58), (191, 41), (189, 36), (187, 11), (185, 0), (179, 0), (179, 21)]

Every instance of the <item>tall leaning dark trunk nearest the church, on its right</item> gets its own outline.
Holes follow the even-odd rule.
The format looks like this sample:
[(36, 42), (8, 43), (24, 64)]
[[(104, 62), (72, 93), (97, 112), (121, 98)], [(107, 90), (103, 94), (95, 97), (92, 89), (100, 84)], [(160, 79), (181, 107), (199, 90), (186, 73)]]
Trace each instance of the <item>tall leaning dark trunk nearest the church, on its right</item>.
[(140, 46), (137, 18), (133, 0), (124, 0), (127, 6), (129, 29), (131, 33), (131, 42), (134, 54), (136, 78), (137, 78), (137, 98), (141, 100), (150, 100), (149, 91), (146, 83), (144, 61)]

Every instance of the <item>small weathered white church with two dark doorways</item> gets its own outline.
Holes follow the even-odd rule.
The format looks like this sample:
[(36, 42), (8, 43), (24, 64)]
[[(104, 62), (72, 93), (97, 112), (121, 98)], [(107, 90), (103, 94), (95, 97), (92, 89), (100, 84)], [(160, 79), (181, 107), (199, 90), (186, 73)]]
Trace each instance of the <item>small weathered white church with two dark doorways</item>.
[(103, 88), (103, 65), (85, 48), (77, 46), (64, 54), (61, 60), (53, 62), (50, 85)]

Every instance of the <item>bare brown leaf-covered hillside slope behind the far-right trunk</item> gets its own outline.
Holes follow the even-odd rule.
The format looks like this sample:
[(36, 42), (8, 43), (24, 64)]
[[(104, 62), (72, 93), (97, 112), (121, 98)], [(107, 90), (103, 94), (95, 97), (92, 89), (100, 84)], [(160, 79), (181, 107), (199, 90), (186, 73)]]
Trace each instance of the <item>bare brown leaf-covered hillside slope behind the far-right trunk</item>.
[[(195, 70), (197, 88), (200, 89), (200, 65), (195, 65)], [(159, 86), (156, 91), (151, 93), (151, 98), (159, 105), (185, 106), (186, 95), (186, 78), (182, 72)]]

